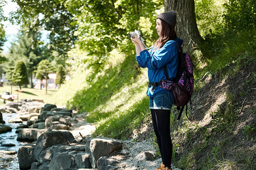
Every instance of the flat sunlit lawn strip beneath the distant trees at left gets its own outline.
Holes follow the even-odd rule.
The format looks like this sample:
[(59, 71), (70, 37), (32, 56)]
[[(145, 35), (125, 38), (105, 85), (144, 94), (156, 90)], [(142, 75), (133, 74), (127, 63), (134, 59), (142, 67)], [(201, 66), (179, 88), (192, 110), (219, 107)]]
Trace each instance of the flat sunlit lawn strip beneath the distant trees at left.
[[(19, 87), (13, 87), (13, 94), (18, 95), (18, 99), (14, 101), (19, 101), (20, 99), (42, 99), (44, 103), (49, 103), (53, 94), (57, 90), (47, 89), (47, 94), (45, 89), (35, 89), (35, 88), (22, 88), (22, 91), (19, 92)], [(11, 92), (11, 86), (4, 85), (0, 87), (0, 94), (4, 92)], [(3, 101), (0, 102), (0, 105), (4, 105)]]

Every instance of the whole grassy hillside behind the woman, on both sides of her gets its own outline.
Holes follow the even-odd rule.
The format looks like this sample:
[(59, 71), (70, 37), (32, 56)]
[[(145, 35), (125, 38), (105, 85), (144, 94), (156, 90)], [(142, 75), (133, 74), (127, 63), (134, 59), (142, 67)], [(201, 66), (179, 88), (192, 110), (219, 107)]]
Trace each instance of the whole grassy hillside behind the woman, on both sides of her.
[[(256, 167), (256, 37), (252, 33), (228, 37), (225, 43), (210, 42), (213, 50), (221, 50), (209, 53), (207, 64), (194, 56), (196, 86), (189, 120), (183, 114), (177, 121), (175, 107), (171, 114), (176, 167)], [(245, 37), (250, 37), (246, 43), (238, 41)], [(157, 147), (146, 96), (147, 70), (138, 67), (134, 56), (134, 51), (130, 56), (114, 52), (99, 67), (81, 64), (51, 102), (85, 112), (86, 120), (96, 124), (94, 136), (150, 140)]]

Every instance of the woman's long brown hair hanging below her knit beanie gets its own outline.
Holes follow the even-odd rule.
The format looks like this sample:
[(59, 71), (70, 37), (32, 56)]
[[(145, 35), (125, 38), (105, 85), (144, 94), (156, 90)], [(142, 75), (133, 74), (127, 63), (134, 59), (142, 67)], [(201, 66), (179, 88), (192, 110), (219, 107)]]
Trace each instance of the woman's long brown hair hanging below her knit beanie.
[(162, 24), (161, 35), (159, 36), (159, 39), (155, 41), (155, 44), (154, 44), (154, 46), (155, 47), (158, 46), (159, 49), (162, 48), (167, 41), (175, 40), (177, 38), (175, 29), (164, 20), (162, 19), (160, 20)]

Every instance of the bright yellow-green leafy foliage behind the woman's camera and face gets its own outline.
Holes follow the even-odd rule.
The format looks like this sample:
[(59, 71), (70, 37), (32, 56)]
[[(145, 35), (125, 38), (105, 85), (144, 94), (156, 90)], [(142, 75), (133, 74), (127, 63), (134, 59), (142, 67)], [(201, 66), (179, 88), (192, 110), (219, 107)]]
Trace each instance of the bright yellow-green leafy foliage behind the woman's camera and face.
[[(104, 63), (109, 52), (114, 48), (119, 47), (122, 52), (130, 53), (133, 44), (128, 39), (127, 33), (134, 29), (154, 29), (152, 26), (156, 15), (154, 10), (163, 6), (163, 2), (69, 0), (65, 1), (65, 5), (77, 16), (79, 28), (75, 35), (78, 37), (78, 47), (88, 52), (89, 56), (97, 58), (94, 63), (97, 65)], [(154, 34), (151, 34), (151, 31), (142, 32), (142, 34), (148, 41), (156, 38), (156, 32)]]

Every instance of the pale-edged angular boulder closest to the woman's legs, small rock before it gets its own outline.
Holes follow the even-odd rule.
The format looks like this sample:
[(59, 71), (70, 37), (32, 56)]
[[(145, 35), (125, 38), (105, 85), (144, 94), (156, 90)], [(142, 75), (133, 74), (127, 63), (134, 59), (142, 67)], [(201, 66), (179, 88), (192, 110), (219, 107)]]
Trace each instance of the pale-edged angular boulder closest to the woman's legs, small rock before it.
[(119, 150), (122, 148), (122, 142), (119, 142), (114, 139), (107, 138), (94, 138), (90, 141), (90, 163), (92, 167), (97, 167), (97, 160), (101, 156), (106, 156), (112, 153), (113, 151)]

